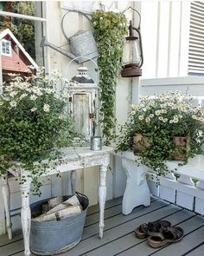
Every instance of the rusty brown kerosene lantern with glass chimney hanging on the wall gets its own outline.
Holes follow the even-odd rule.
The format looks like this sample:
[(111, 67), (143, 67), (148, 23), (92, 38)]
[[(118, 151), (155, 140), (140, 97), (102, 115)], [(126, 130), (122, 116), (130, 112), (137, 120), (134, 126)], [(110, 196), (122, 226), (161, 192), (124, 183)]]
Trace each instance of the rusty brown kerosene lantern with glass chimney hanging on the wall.
[[(138, 15), (140, 16), (139, 13)], [(123, 69), (121, 71), (121, 75), (122, 77), (140, 76), (142, 75), (141, 67), (143, 65), (143, 46), (140, 33), (140, 22), (138, 28), (135, 28), (132, 26), (132, 22), (130, 21), (128, 29), (129, 36), (125, 37), (124, 55), (122, 59)], [(134, 35), (134, 30), (137, 31), (137, 36)]]

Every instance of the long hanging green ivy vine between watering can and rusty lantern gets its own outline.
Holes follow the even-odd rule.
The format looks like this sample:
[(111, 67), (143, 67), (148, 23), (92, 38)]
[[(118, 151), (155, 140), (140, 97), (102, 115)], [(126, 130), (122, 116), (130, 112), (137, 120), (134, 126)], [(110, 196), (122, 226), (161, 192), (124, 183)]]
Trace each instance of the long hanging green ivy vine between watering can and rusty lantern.
[(115, 97), (118, 70), (124, 49), (127, 22), (124, 14), (97, 10), (92, 14), (94, 38), (98, 45), (100, 122), (105, 144), (111, 143), (115, 132)]

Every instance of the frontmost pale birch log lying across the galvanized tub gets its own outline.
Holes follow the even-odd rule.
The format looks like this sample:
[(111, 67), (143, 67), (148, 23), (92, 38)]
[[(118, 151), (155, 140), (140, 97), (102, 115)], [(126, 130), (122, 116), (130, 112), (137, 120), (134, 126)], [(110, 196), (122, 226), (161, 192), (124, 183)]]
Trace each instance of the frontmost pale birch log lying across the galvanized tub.
[(45, 213), (40, 216), (33, 218), (33, 221), (41, 222), (41, 221), (50, 221), (50, 220), (64, 220), (73, 215), (80, 214), (82, 212), (80, 206), (70, 206), (65, 209), (61, 209), (59, 211), (55, 211), (54, 213)]

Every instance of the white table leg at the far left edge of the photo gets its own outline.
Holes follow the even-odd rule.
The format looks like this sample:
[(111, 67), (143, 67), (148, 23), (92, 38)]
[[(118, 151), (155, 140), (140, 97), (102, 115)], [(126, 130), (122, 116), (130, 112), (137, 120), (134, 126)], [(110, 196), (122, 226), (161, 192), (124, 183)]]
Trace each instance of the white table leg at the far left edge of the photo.
[(3, 196), (3, 205), (6, 215), (6, 230), (9, 236), (9, 239), (12, 240), (12, 230), (11, 230), (11, 221), (10, 221), (10, 187), (8, 183), (8, 174), (1, 175), (2, 181), (2, 196)]

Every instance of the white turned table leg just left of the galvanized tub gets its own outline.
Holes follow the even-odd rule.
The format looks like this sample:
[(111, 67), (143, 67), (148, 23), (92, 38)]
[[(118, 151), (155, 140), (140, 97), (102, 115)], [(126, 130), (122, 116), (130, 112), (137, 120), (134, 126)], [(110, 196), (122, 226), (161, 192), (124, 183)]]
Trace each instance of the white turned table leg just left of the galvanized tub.
[(22, 233), (23, 233), (23, 242), (24, 242), (24, 255), (31, 255), (29, 250), (29, 233), (30, 233), (30, 224), (31, 224), (31, 212), (29, 207), (29, 192), (30, 184), (22, 184), (21, 186), (22, 194)]

